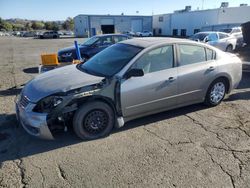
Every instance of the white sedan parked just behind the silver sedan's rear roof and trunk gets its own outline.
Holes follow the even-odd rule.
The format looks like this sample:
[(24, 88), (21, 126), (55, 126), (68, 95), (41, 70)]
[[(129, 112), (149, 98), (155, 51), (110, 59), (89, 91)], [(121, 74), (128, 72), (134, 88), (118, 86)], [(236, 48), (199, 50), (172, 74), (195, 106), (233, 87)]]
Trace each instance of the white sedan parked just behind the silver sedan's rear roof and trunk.
[(236, 48), (237, 38), (224, 32), (208, 31), (199, 32), (190, 37), (191, 40), (205, 42), (226, 52)]

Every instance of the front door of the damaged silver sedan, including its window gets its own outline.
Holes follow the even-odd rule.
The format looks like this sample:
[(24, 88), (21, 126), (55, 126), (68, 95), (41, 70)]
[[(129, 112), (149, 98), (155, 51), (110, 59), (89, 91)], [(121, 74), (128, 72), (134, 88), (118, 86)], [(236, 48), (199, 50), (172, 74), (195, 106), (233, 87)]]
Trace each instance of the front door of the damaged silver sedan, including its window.
[(158, 47), (141, 56), (131, 67), (143, 69), (143, 77), (132, 77), (121, 84), (124, 117), (154, 113), (176, 104), (177, 68), (173, 46)]

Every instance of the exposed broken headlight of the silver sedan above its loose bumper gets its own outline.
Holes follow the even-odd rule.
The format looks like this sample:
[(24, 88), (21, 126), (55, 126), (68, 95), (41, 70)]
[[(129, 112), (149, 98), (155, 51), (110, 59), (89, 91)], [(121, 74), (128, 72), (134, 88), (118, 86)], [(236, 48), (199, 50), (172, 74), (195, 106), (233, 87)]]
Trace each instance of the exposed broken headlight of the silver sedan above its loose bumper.
[(60, 96), (49, 96), (39, 101), (34, 108), (35, 112), (48, 113), (63, 102)]

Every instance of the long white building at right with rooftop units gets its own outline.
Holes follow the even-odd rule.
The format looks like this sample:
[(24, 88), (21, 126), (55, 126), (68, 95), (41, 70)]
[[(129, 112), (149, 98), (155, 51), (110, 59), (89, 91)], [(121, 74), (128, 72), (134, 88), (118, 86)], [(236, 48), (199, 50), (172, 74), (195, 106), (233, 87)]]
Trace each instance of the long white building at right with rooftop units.
[(250, 6), (246, 4), (228, 7), (224, 3), (221, 8), (196, 11), (191, 11), (191, 7), (187, 6), (171, 14), (153, 16), (153, 30), (155, 35), (191, 36), (202, 30), (215, 31), (240, 26), (248, 21)]

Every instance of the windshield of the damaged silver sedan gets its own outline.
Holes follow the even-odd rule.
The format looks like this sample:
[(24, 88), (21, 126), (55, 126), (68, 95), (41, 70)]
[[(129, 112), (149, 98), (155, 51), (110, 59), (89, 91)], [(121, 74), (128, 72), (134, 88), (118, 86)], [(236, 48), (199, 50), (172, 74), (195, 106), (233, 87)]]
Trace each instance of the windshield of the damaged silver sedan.
[(118, 73), (142, 48), (117, 43), (101, 51), (80, 65), (84, 72), (97, 76), (111, 77)]

